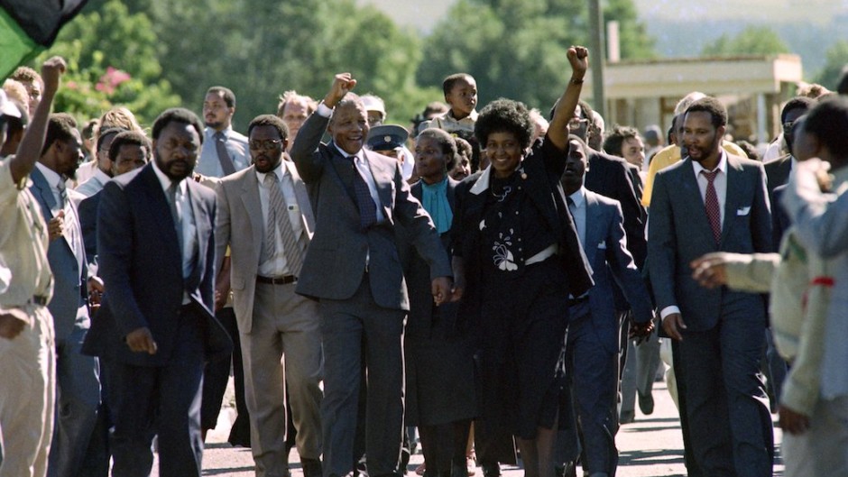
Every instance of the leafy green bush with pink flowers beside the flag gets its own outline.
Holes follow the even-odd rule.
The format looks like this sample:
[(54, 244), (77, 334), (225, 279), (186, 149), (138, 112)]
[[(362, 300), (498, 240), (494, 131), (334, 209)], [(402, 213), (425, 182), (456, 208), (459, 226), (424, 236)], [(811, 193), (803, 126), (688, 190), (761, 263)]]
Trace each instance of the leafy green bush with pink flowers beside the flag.
[(124, 105), (141, 123), (150, 124), (163, 109), (180, 105), (180, 96), (160, 78), (156, 41), (146, 15), (130, 14), (120, 0), (108, 0), (101, 10), (69, 23), (35, 64), (52, 55), (69, 62), (57, 110), (82, 120)]

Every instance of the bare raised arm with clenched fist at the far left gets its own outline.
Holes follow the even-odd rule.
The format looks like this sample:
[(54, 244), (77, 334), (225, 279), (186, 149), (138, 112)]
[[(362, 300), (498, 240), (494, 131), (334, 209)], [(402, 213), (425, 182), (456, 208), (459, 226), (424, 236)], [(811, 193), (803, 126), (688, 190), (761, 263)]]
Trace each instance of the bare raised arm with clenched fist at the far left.
[(32, 168), (35, 167), (35, 161), (38, 161), (38, 158), (41, 157), (41, 147), (44, 145), (44, 138), (47, 136), (47, 120), (50, 118), (51, 108), (53, 107), (53, 97), (59, 90), (60, 77), (66, 68), (65, 60), (58, 56), (44, 61), (44, 64), (41, 65), (41, 78), (44, 80), (44, 93), (41, 95), (41, 103), (36, 106), (30, 124), (26, 128), (26, 133), (23, 134), (21, 144), (18, 145), (18, 151), (10, 164), (12, 179), (14, 179), (15, 184), (20, 183), (23, 178), (30, 174)]

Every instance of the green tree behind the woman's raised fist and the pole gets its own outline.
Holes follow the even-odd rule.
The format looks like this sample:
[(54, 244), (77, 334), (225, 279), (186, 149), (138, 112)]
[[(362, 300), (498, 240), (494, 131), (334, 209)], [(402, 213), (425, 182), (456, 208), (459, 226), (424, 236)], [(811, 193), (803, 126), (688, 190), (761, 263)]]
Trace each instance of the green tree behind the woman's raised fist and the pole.
[[(459, 0), (425, 42), (419, 84), (462, 71), (477, 80), (480, 105), (504, 96), (547, 112), (570, 74), (568, 47), (588, 40), (587, 17), (583, 0)], [(620, 22), (622, 59), (653, 56), (631, 0), (610, 0), (604, 19)]]

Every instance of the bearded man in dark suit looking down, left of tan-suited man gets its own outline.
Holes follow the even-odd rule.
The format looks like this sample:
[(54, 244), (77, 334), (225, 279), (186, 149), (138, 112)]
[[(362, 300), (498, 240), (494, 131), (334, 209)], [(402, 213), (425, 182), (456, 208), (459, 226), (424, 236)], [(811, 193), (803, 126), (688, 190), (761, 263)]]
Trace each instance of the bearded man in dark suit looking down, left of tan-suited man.
[(157, 434), (161, 476), (200, 475), (204, 362), (232, 351), (212, 312), (215, 194), (186, 180), (202, 131), (190, 111), (165, 111), (152, 127), (154, 161), (101, 194), (106, 294), (86, 350), (113, 363), (115, 476), (149, 475)]

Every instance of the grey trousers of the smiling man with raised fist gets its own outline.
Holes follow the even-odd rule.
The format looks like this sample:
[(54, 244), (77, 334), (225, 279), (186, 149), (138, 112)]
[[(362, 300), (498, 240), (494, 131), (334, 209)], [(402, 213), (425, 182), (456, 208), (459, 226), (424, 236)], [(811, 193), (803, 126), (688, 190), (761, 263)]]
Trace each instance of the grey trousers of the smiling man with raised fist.
[(324, 477), (353, 470), (361, 364), (367, 386), (365, 454), (368, 474), (397, 474), (403, 433), (405, 311), (378, 307), (367, 275), (355, 295), (320, 302), (324, 344)]

